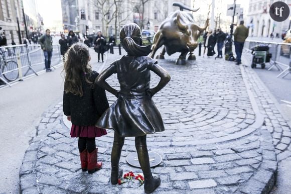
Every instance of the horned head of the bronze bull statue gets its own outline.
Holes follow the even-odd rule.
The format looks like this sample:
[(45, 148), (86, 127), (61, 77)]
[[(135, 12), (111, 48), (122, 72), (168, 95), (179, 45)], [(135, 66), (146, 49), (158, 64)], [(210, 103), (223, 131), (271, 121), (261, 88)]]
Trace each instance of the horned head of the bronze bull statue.
[[(206, 30), (209, 19), (206, 20), (204, 28), (201, 28), (193, 23), (185, 23), (184, 18), (181, 18), (181, 16), (177, 15), (177, 26), (178, 29), (184, 34), (184, 36), (181, 37), (182, 42), (186, 43), (187, 48), (190, 52), (193, 52), (197, 48), (197, 40), (200, 34)], [(187, 20), (187, 19), (186, 19)]]

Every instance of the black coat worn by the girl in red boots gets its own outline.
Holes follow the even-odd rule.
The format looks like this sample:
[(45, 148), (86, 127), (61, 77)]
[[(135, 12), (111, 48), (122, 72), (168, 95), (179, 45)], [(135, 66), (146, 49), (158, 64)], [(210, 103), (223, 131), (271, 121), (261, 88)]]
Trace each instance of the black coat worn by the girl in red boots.
[[(89, 80), (94, 82), (98, 73), (92, 71)], [(66, 116), (71, 116), (74, 125), (94, 126), (101, 115), (109, 107), (105, 90), (98, 85), (91, 88), (85, 81), (85, 76), (81, 75), (83, 96), (65, 93), (63, 96), (63, 111)]]

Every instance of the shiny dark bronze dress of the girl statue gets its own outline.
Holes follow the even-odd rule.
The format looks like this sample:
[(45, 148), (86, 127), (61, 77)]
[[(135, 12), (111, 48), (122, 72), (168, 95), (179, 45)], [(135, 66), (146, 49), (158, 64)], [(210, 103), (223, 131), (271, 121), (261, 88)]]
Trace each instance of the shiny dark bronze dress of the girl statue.
[(123, 56), (110, 65), (117, 73), (120, 94), (98, 120), (97, 127), (113, 129), (121, 137), (165, 130), (161, 114), (146, 92), (150, 88), (150, 67), (155, 63), (147, 56)]

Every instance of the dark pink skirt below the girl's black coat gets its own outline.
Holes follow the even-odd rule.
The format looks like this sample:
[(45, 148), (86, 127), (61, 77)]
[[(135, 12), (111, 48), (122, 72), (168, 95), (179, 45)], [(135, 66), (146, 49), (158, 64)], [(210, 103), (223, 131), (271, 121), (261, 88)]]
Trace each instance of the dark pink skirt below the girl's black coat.
[(105, 129), (100, 129), (95, 126), (79, 126), (72, 124), (70, 135), (71, 137), (101, 137), (106, 135)]

